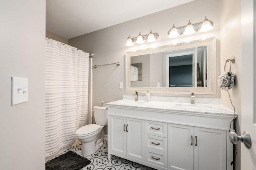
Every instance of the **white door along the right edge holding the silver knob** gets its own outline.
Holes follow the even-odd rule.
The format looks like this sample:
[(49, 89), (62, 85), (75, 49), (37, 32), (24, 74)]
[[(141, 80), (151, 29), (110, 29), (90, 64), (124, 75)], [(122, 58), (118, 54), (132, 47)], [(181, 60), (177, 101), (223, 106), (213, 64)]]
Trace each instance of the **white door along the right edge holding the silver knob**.
[(256, 170), (256, 0), (242, 0), (242, 113), (241, 133), (250, 133), (252, 147), (241, 144), (241, 170)]

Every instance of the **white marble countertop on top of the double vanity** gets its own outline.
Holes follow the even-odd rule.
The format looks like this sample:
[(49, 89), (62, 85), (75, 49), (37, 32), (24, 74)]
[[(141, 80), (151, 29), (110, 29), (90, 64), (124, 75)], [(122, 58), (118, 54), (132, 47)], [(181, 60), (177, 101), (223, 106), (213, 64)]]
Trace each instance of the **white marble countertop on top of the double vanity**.
[[(107, 106), (124, 106), (124, 107), (133, 107), (141, 109), (154, 109), (154, 110), (165, 110), (170, 111), (179, 111), (184, 113), (204, 113), (204, 114), (214, 114), (214, 115), (227, 115), (234, 116), (234, 111), (220, 105), (220, 104), (189, 104), (183, 102), (159, 102), (159, 101), (150, 101), (146, 102), (144, 100), (117, 100), (106, 104)], [(237, 114), (236, 114), (237, 117)]]

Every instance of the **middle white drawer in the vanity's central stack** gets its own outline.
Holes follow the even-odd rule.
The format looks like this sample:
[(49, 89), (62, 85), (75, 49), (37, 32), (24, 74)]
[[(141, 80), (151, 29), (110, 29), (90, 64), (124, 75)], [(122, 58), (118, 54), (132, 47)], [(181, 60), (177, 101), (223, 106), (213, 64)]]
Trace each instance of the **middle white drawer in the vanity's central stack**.
[(159, 152), (167, 153), (167, 138), (145, 135), (145, 147)]

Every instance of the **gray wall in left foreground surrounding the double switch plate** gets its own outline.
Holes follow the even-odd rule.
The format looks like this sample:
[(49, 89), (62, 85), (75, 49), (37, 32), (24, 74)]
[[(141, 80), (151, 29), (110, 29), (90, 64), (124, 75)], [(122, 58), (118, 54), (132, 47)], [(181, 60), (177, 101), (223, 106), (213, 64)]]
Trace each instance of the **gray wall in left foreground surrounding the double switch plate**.
[[(0, 5), (0, 169), (44, 170), (45, 0)], [(28, 102), (11, 106), (11, 77), (28, 78)]]

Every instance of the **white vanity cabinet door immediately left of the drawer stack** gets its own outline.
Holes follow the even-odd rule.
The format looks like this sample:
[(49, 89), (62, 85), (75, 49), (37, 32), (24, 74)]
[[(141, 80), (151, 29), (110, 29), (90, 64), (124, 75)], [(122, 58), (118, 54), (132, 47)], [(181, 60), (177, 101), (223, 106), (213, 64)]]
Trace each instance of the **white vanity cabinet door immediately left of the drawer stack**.
[(145, 121), (126, 118), (126, 156), (145, 161)]

